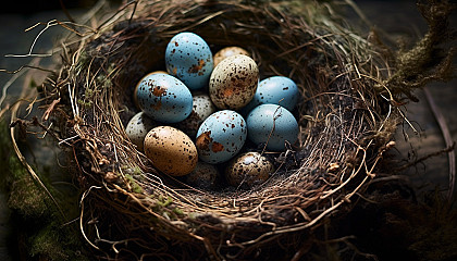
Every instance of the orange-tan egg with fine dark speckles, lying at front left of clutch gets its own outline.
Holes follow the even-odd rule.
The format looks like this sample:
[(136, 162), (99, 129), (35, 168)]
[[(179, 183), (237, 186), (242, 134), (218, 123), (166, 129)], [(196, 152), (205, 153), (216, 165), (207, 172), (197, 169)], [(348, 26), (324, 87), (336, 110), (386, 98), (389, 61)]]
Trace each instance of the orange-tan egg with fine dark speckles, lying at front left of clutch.
[(145, 138), (145, 154), (159, 171), (171, 176), (184, 176), (198, 162), (198, 152), (192, 139), (171, 126), (152, 128)]

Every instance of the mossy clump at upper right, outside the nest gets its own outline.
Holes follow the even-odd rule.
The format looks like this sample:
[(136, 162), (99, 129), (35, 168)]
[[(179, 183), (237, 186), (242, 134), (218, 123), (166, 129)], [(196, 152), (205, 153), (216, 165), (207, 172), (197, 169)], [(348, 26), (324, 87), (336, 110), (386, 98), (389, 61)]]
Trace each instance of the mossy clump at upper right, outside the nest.
[[(418, 101), (412, 91), (435, 80), (446, 82), (455, 77), (453, 59), (457, 37), (449, 28), (454, 7), (448, 1), (429, 0), (418, 4), (429, 24), (429, 32), (411, 49), (399, 50), (394, 57), (396, 72), (383, 85), (395, 96), (405, 95)], [(378, 86), (382, 91), (383, 86)]]

